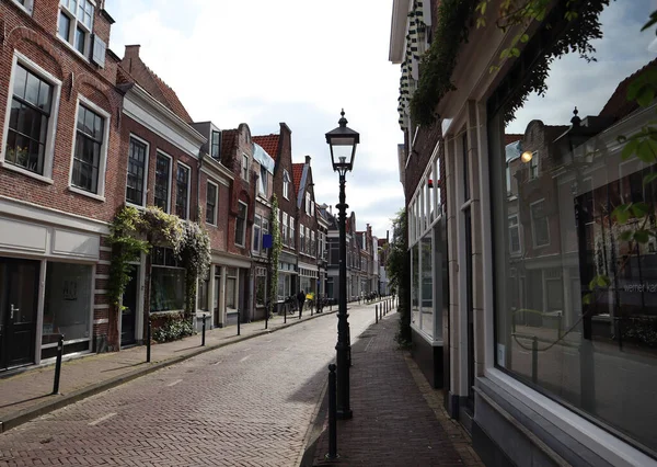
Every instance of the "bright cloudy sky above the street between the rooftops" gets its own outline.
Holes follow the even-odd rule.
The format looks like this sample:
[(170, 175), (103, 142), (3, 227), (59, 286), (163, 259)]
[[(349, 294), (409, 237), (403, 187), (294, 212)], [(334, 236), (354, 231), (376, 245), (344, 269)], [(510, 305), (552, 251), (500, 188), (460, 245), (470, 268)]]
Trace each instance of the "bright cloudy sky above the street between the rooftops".
[(222, 129), (246, 123), (254, 136), (285, 122), (292, 161), (311, 156), (318, 204), (338, 202), (324, 134), (344, 107), (360, 133), (349, 212), (358, 230), (370, 224), (385, 237), (404, 206), (400, 68), (388, 61), (392, 0), (106, 0), (105, 9), (116, 20), (110, 48), (123, 57), (125, 45), (140, 44), (142, 60), (194, 121)]

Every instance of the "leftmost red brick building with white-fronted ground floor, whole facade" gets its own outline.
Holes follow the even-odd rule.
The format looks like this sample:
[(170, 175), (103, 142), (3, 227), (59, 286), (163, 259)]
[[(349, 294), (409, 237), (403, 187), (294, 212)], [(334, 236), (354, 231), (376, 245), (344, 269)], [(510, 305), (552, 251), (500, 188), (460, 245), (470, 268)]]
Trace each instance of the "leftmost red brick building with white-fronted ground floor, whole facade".
[(0, 4), (0, 371), (54, 356), (59, 334), (67, 354), (107, 348), (122, 94), (114, 21), (80, 7)]

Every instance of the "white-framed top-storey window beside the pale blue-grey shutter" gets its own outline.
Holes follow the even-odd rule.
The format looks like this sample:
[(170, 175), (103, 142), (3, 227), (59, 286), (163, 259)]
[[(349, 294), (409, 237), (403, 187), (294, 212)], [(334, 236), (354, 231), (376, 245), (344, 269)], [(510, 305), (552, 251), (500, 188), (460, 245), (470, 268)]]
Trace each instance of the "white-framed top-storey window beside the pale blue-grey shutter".
[(91, 49), (94, 3), (91, 0), (61, 0), (57, 34), (84, 57)]

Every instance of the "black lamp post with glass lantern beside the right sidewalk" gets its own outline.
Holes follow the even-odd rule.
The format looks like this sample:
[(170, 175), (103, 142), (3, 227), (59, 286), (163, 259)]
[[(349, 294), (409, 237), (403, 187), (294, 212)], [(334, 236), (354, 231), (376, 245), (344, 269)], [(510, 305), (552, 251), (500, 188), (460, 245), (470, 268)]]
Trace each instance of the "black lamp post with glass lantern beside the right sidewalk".
[(351, 408), (349, 405), (349, 354), (351, 343), (349, 342), (349, 322), (347, 318), (347, 238), (345, 225), (347, 219), (347, 207), (345, 198), (345, 175), (354, 168), (354, 156), (356, 146), (360, 143), (360, 135), (347, 127), (345, 111), (341, 112), (339, 126), (326, 133), (326, 143), (331, 148), (331, 162), (333, 170), (339, 174), (339, 297), (337, 303), (337, 417), (350, 419)]

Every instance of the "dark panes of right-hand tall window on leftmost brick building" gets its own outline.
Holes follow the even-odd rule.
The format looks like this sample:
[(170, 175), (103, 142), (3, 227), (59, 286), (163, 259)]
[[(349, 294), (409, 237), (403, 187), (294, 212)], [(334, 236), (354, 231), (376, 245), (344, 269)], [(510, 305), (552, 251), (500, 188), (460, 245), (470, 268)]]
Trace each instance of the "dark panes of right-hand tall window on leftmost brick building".
[(91, 193), (99, 193), (101, 148), (105, 121), (84, 105), (78, 109), (76, 152), (71, 184)]

